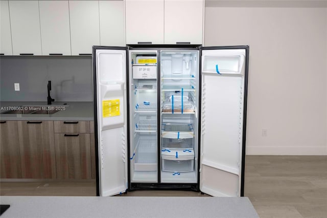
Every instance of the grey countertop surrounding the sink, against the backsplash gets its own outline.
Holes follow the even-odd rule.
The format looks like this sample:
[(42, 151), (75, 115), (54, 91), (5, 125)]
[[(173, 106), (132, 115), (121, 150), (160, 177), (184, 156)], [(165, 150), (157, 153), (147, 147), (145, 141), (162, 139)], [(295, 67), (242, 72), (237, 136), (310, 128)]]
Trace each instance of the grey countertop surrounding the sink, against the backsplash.
[[(64, 105), (66, 104), (66, 105)], [(59, 107), (55, 114), (0, 114), (1, 120), (94, 120), (94, 103), (92, 101), (64, 102), (55, 101), (48, 105), (46, 101), (2, 101), (0, 113), (8, 111), (6, 107), (43, 106)]]

